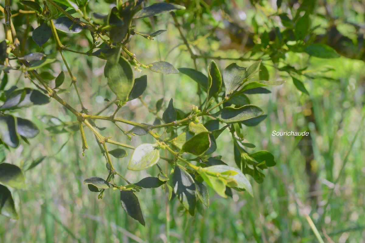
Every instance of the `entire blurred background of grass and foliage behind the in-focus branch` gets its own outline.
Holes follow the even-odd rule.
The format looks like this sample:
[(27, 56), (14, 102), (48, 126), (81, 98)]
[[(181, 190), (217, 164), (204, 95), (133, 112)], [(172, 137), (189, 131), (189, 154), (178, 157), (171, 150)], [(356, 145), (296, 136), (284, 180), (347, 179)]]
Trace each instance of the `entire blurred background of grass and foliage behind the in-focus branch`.
[[(277, 41), (278, 35), (270, 40), (268, 50), (255, 50), (255, 46), (260, 45), (257, 44), (260, 42), (258, 39), (264, 39), (262, 33), (265, 31), (270, 33), (277, 27), (283, 33), (283, 30), (291, 29), (290, 9), (304, 6), (304, 1), (283, 1), (277, 12), (274, 2), (175, 1), (187, 8), (177, 11), (176, 15), (189, 47), (199, 56), (196, 58), (199, 71), (206, 74), (211, 57), (215, 57), (221, 72), (231, 62), (248, 67), (253, 59), (263, 59), (270, 80), (287, 81), (282, 86), (271, 88), (270, 94), (250, 95), (252, 103), (260, 106), (268, 117), (258, 126), (244, 129), (247, 139), (256, 145), (255, 150), (272, 152), (277, 162), (274, 168), (264, 172), (266, 178), (262, 184), (249, 177), (253, 198), (247, 193), (234, 192), (233, 198), (227, 200), (209, 188), (210, 208), (200, 208), (193, 217), (184, 213), (176, 199), (169, 202), (167, 191), (146, 189), (138, 194), (146, 222), (146, 227), (143, 227), (120, 207), (118, 193), (107, 191), (108, 199), (97, 200), (96, 194), (82, 183), (90, 175), (98, 176), (105, 170), (104, 158), (96, 149), (91, 133), (86, 134), (90, 149), (82, 157), (78, 132), (73, 134), (71, 130), (70, 134), (46, 129), (52, 122), (58, 125), (59, 121), (46, 121), (45, 115), (66, 123), (74, 121), (72, 114), (52, 101), (45, 106), (19, 111), (20, 117), (30, 119), (41, 128), (30, 145), (22, 143), (11, 150), (0, 146), (0, 161), (18, 165), (24, 170), (32, 161), (46, 156), (39, 165), (25, 172), (26, 188), (11, 189), (20, 219), (0, 215), (0, 242), (318, 242), (311, 223), (324, 242), (364, 242), (364, 3), (355, 0), (308, 1), (314, 3), (314, 7), (305, 9), (305, 13), (310, 14), (311, 28), (319, 26), (311, 31), (313, 41), (323, 35), (328, 39), (320, 41), (341, 54), (338, 58), (322, 59), (297, 49), (286, 50), (281, 45), (283, 42)], [(154, 1), (149, 1), (146, 5), (152, 3)], [(4, 6), (3, 1), (0, 5)], [(89, 6), (102, 13), (107, 13), (110, 8), (109, 4), (101, 1), (90, 1)], [(12, 9), (18, 8), (24, 9), (24, 6), (14, 1)], [(276, 14), (283, 12), (289, 13), (289, 20)], [(19, 16), (28, 21), (27, 14)], [(328, 37), (331, 30), (334, 31), (333, 26), (340, 33), (335, 35), (337, 42), (335, 38)], [(142, 63), (166, 60), (177, 68), (195, 68), (191, 53), (171, 15), (138, 21), (136, 26), (136, 30), (146, 33), (160, 29), (168, 32), (153, 41), (133, 36), (128, 48)], [(3, 33), (1, 30), (0, 39), (4, 39)], [(84, 35), (91, 38), (86, 32)], [(88, 51), (85, 39), (71, 34), (60, 33), (60, 36), (61, 41), (72, 43), (70, 49), (77, 47), (80, 51)], [(245, 42), (241, 41), (245, 38)], [(309, 39), (303, 38), (304, 42), (309, 42)], [(250, 45), (250, 40), (255, 45)], [(290, 49), (287, 41), (285, 44)], [(299, 41), (294, 41), (293, 46), (300, 48)], [(40, 50), (32, 42), (31, 35), (27, 36), (25, 43), (29, 50)], [(53, 46), (48, 43), (42, 51), (48, 54)], [(60, 59), (56, 55), (54, 58)], [(89, 114), (103, 109), (104, 98), (112, 99), (114, 95), (106, 86), (103, 75), (105, 62), (73, 52), (65, 52), (65, 58), (71, 63)], [(301, 71), (291, 72), (289, 66)], [(54, 76), (61, 70), (66, 71), (65, 67), (57, 64), (52, 68), (54, 72), (50, 74)], [(143, 100), (151, 109), (160, 98), (164, 98), (167, 107), (170, 98), (174, 97), (176, 108), (182, 110), (188, 110), (192, 104), (199, 102), (196, 83), (189, 77), (181, 73), (161, 75), (142, 69), (141, 75), (145, 74), (148, 85)], [(289, 74), (300, 79), (305, 88), (301, 83), (293, 82)], [(18, 72), (10, 72), (8, 79), (7, 87), (16, 83), (31, 85)], [(51, 79), (50, 82), (54, 81)], [(70, 82), (66, 75), (64, 85)], [(74, 89), (61, 95), (70, 104), (78, 104)], [(147, 111), (136, 99), (128, 102), (119, 111), (118, 117), (153, 123), (154, 115)], [(113, 112), (114, 108), (110, 108), (103, 114)], [(108, 126), (108, 122), (100, 121), (98, 126), (107, 127), (105, 131), (114, 134), (114, 138), (126, 140), (120, 130)], [(124, 128), (129, 130), (132, 127)], [(302, 140), (293, 136), (274, 137), (273, 130), (306, 130), (310, 137)], [(233, 151), (228, 130), (221, 136), (216, 154), (225, 154), (225, 162), (234, 165), (234, 154), (226, 154)], [(133, 137), (131, 145), (137, 146), (141, 142), (153, 141), (152, 138)], [(125, 157), (114, 165), (130, 181), (158, 173), (156, 168), (140, 173), (128, 171), (127, 162), (128, 157)], [(164, 169), (169, 170), (167, 165)]]

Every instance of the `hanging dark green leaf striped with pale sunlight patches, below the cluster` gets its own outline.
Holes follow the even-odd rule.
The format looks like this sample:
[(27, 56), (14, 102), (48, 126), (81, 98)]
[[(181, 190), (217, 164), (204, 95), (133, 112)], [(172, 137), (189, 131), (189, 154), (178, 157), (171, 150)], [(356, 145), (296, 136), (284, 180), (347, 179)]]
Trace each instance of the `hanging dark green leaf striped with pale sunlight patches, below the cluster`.
[(196, 192), (193, 178), (184, 169), (175, 166), (172, 183), (176, 197), (193, 216), (196, 205)]

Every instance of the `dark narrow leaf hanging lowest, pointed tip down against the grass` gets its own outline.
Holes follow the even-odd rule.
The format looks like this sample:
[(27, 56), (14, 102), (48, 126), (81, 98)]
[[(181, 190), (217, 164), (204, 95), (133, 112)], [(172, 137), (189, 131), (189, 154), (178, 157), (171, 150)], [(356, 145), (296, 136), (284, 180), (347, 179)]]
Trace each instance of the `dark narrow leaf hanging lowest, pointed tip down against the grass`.
[(134, 192), (130, 190), (120, 191), (120, 203), (129, 216), (138, 220), (139, 223), (145, 226), (141, 206), (139, 205), (138, 197)]

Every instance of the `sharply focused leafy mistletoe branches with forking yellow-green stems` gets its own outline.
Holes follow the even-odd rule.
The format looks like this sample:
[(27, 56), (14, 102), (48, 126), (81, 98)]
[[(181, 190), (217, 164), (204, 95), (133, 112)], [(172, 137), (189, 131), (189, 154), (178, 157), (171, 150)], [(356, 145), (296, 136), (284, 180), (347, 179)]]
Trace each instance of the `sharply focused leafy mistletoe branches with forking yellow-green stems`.
[[(209, 195), (207, 184), (222, 197), (232, 196), (231, 189), (247, 191), (250, 195), (253, 190), (245, 175), (250, 175), (258, 183), (262, 183), (264, 174), (260, 171), (274, 166), (274, 158), (267, 151), (248, 153), (246, 148), (254, 148), (245, 139), (242, 132), (243, 126), (254, 126), (265, 119), (263, 110), (250, 104), (246, 94), (266, 93), (264, 86), (281, 85), (284, 81), (268, 81), (268, 72), (263, 68), (260, 73), (261, 60), (258, 60), (250, 67), (240, 67), (232, 63), (223, 72), (214, 61), (207, 67), (208, 77), (202, 72), (192, 68), (176, 69), (172, 64), (164, 61), (151, 64), (141, 63), (135, 54), (127, 49), (127, 44), (132, 36), (141, 35), (148, 40), (163, 34), (166, 30), (159, 30), (153, 34), (142, 34), (135, 30), (132, 21), (145, 17), (151, 17), (160, 13), (171, 12), (178, 31), (181, 34), (176, 15), (173, 11), (182, 11), (183, 6), (170, 3), (155, 3), (149, 7), (142, 8), (142, 1), (128, 0), (125, 3), (117, 0), (116, 6), (111, 8), (108, 15), (92, 11), (86, 0), (53, 0), (43, 1), (43, 5), (37, 1), (20, 0), (19, 8), (26, 7), (30, 11), (20, 9), (17, 13), (31, 15), (37, 20), (38, 27), (32, 31), (32, 39), (43, 50), (43, 46), (53, 37), (55, 48), (62, 59), (70, 77), (73, 88), (76, 91), (80, 102), (80, 111), (64, 101), (58, 94), (64, 92), (61, 89), (65, 74), (63, 71), (55, 78), (55, 86), (51, 87), (45, 80), (47, 75), (42, 75), (42, 70), (49, 70), (50, 63), (57, 62), (56, 55), (45, 55), (42, 52), (27, 53), (21, 43), (21, 36), (27, 35), (31, 28), (26, 28), (22, 35), (17, 35), (16, 28), (12, 22), (11, 3), (5, 0), (4, 8), (1, 7), (5, 17), (5, 36), (1, 42), (1, 71), (3, 78), (0, 92), (3, 105), (0, 107), (0, 138), (6, 148), (16, 148), (20, 140), (29, 142), (28, 138), (36, 136), (39, 129), (31, 121), (11, 115), (13, 110), (25, 109), (31, 105), (43, 105), (55, 99), (75, 116), (75, 123), (58, 125), (52, 124), (52, 119), (46, 117), (46, 123), (53, 125), (49, 131), (62, 130), (66, 132), (80, 132), (82, 140), (82, 154), (88, 149), (85, 138), (84, 127), (87, 127), (95, 135), (101, 153), (106, 161), (107, 173), (105, 179), (90, 177), (84, 180), (92, 192), (98, 192), (98, 198), (103, 198), (106, 189), (120, 191), (120, 201), (124, 210), (145, 225), (136, 192), (142, 188), (165, 188), (169, 191), (169, 200), (172, 197), (183, 204), (184, 208), (194, 215), (197, 202), (201, 201), (209, 207)], [(74, 17), (76, 14), (80, 17)], [(15, 21), (16, 23), (16, 21)], [(29, 23), (29, 22), (28, 22)], [(19, 23), (16, 23), (18, 25)], [(90, 32), (93, 36), (89, 43), (90, 49), (87, 52), (72, 50), (71, 47), (61, 43), (60, 32), (80, 35)], [(183, 37), (183, 35), (181, 35)], [(183, 38), (184, 43), (186, 39)], [(25, 39), (24, 39), (25, 41)], [(188, 45), (187, 45), (188, 46)], [(104, 76), (107, 79), (108, 87), (116, 95), (115, 101), (106, 100), (106, 108), (116, 105), (115, 112), (108, 116), (88, 114), (85, 109), (76, 85), (76, 77), (72, 74), (69, 63), (66, 62), (64, 52), (71, 51), (86, 56), (96, 56), (106, 59)], [(191, 52), (191, 49), (189, 49)], [(124, 57), (125, 56), (125, 57)], [(53, 57), (53, 58), (52, 58)], [(12, 60), (16, 60), (12, 61)], [(160, 116), (164, 99), (160, 99), (155, 109), (151, 109), (143, 101), (143, 93), (147, 86), (147, 76), (135, 78), (134, 70), (141, 71), (145, 68), (162, 74), (177, 74), (179, 72), (188, 75), (197, 82), (200, 90), (200, 103), (192, 105), (189, 111), (182, 111), (174, 108), (174, 101), (170, 99), (167, 108)], [(15, 87), (4, 90), (8, 82), (8, 72), (19, 70), (26, 78), (29, 78), (36, 89), (30, 87)], [(250, 81), (255, 74), (259, 75), (262, 81)], [(54, 77), (53, 77), (54, 78)], [(51, 78), (52, 79), (52, 78)], [(47, 95), (48, 96), (47, 96)], [(50, 97), (50, 98), (49, 98)], [(128, 101), (139, 98), (141, 102), (155, 114), (154, 124), (138, 123), (127, 119), (116, 117), (117, 112), (123, 109)], [(161, 111), (162, 112), (162, 111)], [(97, 127), (97, 120), (107, 120), (117, 126), (126, 135), (129, 141), (132, 136), (152, 136), (155, 139), (153, 144), (141, 144), (137, 147), (128, 143), (112, 140), (107, 134), (101, 134), (103, 129)], [(203, 122), (205, 121), (205, 122)], [(131, 130), (124, 130), (119, 123), (134, 126)], [(222, 161), (222, 156), (212, 157), (217, 149), (217, 140), (220, 134), (228, 129), (233, 141), (233, 152), (238, 168), (227, 165)], [(101, 130), (101, 131), (98, 131)], [(128, 141), (127, 140), (127, 141)], [(118, 145), (122, 148), (109, 150), (107, 144)], [(157, 177), (146, 177), (137, 183), (130, 183), (123, 175), (114, 168), (111, 156), (122, 158), (127, 156), (123, 148), (133, 150), (127, 168), (132, 171), (141, 171), (151, 166), (157, 166), (159, 173)], [(169, 157), (160, 155), (160, 151), (167, 150)], [(35, 160), (28, 169), (39, 164), (44, 157)], [(165, 161), (171, 166), (171, 172), (166, 174), (162, 171), (158, 162)], [(122, 182), (117, 180), (121, 178)], [(10, 187), (22, 188), (24, 175), (18, 166), (3, 163), (0, 164), (0, 182)], [(9, 217), (17, 217), (14, 201), (11, 193), (4, 185), (0, 185), (0, 211)]]

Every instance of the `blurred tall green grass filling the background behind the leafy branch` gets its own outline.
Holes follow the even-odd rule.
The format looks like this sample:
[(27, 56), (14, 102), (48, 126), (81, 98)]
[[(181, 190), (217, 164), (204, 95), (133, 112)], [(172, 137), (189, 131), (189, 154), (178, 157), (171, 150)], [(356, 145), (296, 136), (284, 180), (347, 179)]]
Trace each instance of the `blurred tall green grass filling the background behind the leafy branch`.
[[(164, 20), (162, 22), (166, 24), (158, 28), (168, 29), (166, 35), (153, 42), (140, 38), (131, 43), (130, 50), (143, 63), (160, 60), (161, 56), (162, 60), (171, 62), (175, 67), (193, 67), (184, 46), (178, 46), (180, 40), (176, 38), (178, 34), (171, 20), (168, 17)], [(212, 55), (227, 56), (232, 53), (217, 50)], [(104, 63), (89, 57), (89, 67), (86, 59), (79, 55), (66, 53), (66, 58), (72, 63), (74, 75), (78, 78), (77, 86), (85, 107), (90, 114), (96, 113), (105, 105), (104, 102), (97, 102), (98, 96), (113, 97), (100, 69)], [(230, 63), (217, 61), (221, 71)], [(81, 139), (77, 132), (71, 136), (50, 136), (45, 130), (46, 125), (39, 120), (39, 117), (48, 114), (62, 121), (75, 121), (57, 102), (22, 111), (20, 115), (32, 119), (41, 128), (41, 133), (31, 141), (31, 145), (23, 144), (7, 152), (5, 162), (26, 167), (32, 158), (41, 155), (47, 158), (26, 172), (27, 188), (13, 190), (20, 219), (11, 220), (0, 215), (0, 242), (317, 242), (305, 218), (306, 213), (323, 238), (325, 232), (334, 242), (364, 242), (364, 62), (345, 58), (308, 59), (303, 54), (290, 54), (288, 63), (294, 63), (295, 67), (309, 63), (310, 69), (316, 69), (316, 72), (328, 66), (334, 67), (335, 71), (320, 72), (334, 80), (302, 80), (311, 94), (307, 97), (296, 90), (291, 78), (269, 68), (271, 79), (287, 82), (272, 88), (271, 94), (250, 96), (252, 103), (262, 107), (268, 118), (257, 127), (246, 128), (246, 138), (257, 146), (255, 150), (272, 152), (277, 162), (274, 168), (266, 172), (264, 183), (257, 184), (250, 178), (254, 197), (234, 192), (233, 199), (222, 199), (210, 190), (210, 208), (201, 208), (200, 213), (192, 217), (182, 211), (176, 199), (168, 202), (166, 191), (161, 188), (143, 189), (138, 197), (146, 227), (126, 215), (117, 192), (107, 191), (104, 199), (98, 200), (97, 194), (90, 192), (82, 183), (90, 176), (105, 177), (106, 172), (105, 160), (91, 132), (85, 129), (89, 149), (82, 157)], [(251, 63), (238, 61), (237, 64), (247, 67)], [(198, 61), (198, 68), (206, 73), (205, 66), (204, 60)], [(59, 71), (55, 67), (55, 72)], [(142, 70), (140, 75), (143, 74), (148, 75), (144, 99), (150, 108), (162, 97), (165, 101), (173, 97), (176, 107), (185, 111), (198, 103), (196, 83), (184, 75), (160, 75)], [(65, 82), (64, 85), (69, 85), (69, 77)], [(24, 83), (31, 86), (28, 81)], [(61, 97), (80, 109), (73, 90)], [(306, 127), (303, 113), (308, 112), (305, 106), (308, 100), (313, 106), (316, 129), (314, 123)], [(113, 111), (108, 109), (103, 114), (110, 115)], [(128, 103), (117, 116), (138, 122), (154, 121), (154, 116), (147, 114), (140, 101)], [(128, 143), (127, 138), (112, 124), (97, 121), (97, 125), (107, 127), (102, 132), (105, 136)], [(305, 157), (297, 146), (299, 141), (295, 137), (272, 136), (273, 130), (301, 128), (311, 132), (312, 140), (308, 146), (313, 146), (313, 164), (318, 171), (317, 190), (311, 193), (308, 193)], [(350, 149), (356, 133), (357, 140)], [(131, 145), (151, 141), (151, 137), (133, 137)], [(65, 146), (62, 147), (63, 144)], [(109, 148), (115, 147), (111, 145)], [(131, 151), (128, 152), (131, 154)], [(347, 153), (348, 162), (339, 175)], [(0, 154), (1, 158), (5, 156), (4, 152), (0, 151)], [(218, 140), (215, 154), (223, 155), (223, 160), (228, 164), (235, 164), (228, 131), (223, 132)], [(157, 175), (155, 168), (142, 172), (127, 171), (128, 158), (114, 159), (113, 162), (116, 169), (131, 182), (147, 175)], [(164, 161), (160, 165), (165, 172), (169, 172)], [(334, 185), (339, 176), (338, 183)], [(331, 194), (332, 190), (334, 194)], [(313, 206), (311, 199), (314, 196), (318, 197), (318, 208)], [(303, 207), (299, 207), (296, 199)], [(321, 223), (320, 217), (327, 200), (330, 200), (328, 211)]]

